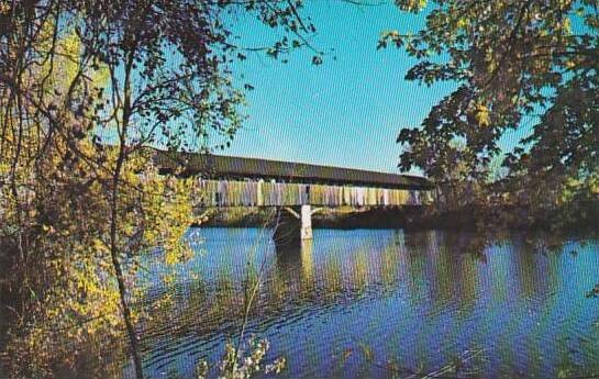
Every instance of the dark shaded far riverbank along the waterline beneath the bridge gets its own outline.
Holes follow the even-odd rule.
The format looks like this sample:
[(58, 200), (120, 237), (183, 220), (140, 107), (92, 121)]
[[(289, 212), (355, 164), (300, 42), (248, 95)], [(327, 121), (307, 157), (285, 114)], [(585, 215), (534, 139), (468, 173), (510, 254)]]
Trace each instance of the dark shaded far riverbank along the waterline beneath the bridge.
[[(540, 230), (573, 233), (598, 232), (599, 203), (588, 204), (576, 218), (565, 210), (532, 211), (528, 207), (468, 205), (457, 210), (429, 208), (363, 208), (342, 207), (323, 209), (312, 215), (315, 228), (406, 228), (479, 231), (480, 227), (497, 230)], [(243, 227), (271, 226), (276, 215), (271, 209), (247, 208), (219, 210), (202, 226)]]

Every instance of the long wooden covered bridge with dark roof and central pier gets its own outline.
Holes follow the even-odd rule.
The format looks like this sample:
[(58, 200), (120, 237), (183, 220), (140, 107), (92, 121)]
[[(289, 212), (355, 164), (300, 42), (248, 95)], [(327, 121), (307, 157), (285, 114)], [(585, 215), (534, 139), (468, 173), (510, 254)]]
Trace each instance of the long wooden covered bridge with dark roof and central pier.
[(420, 207), (432, 202), (433, 185), (417, 176), (192, 153), (158, 152), (155, 160), (165, 174), (197, 177), (200, 207), (276, 207), (291, 215), (286, 224), (293, 224), (301, 239), (312, 238), (314, 205)]

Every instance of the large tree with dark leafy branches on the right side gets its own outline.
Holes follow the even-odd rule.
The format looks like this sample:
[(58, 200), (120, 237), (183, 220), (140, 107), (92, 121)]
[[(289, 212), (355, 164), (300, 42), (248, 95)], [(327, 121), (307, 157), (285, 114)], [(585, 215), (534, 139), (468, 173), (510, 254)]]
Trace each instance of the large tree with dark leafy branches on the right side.
[[(499, 141), (532, 121), (509, 153), (512, 172), (539, 180), (588, 176), (599, 167), (599, 4), (594, 0), (408, 1), (426, 12), (414, 34), (387, 32), (379, 47), (404, 48), (419, 63), (406, 75), (428, 86), (452, 81), (418, 129), (402, 130), (400, 167), (443, 179), (452, 143), (473, 178), (486, 178)], [(526, 122), (524, 122), (526, 121)], [(541, 181), (542, 182), (542, 181)]]

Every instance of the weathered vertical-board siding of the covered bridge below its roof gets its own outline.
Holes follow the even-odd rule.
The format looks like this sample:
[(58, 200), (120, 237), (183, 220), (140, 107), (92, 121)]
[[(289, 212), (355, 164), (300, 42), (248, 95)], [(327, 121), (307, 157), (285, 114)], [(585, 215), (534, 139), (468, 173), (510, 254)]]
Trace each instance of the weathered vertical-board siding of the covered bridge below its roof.
[(199, 179), (197, 189), (196, 203), (202, 207), (399, 207), (432, 202), (428, 190), (374, 187)]

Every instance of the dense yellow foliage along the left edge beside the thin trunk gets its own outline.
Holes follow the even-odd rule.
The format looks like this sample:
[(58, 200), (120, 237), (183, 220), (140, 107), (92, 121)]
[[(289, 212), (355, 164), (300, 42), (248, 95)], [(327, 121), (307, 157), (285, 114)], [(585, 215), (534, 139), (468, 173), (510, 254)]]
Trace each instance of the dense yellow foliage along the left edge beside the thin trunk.
[[(40, 77), (47, 77), (42, 98), (56, 103), (66, 101), (60, 93), (80, 94), (81, 89), (73, 86), (78, 80), (80, 43), (68, 33), (54, 48), (57, 56), (52, 67), (42, 65), (27, 80), (38, 83)], [(90, 73), (85, 85), (103, 82), (106, 76), (98, 73), (102, 70)], [(80, 133), (78, 121), (85, 115), (63, 112), (65, 124), (52, 138), (34, 133), (44, 131), (40, 119), (23, 125), (27, 129), (21, 135), (8, 129), (0, 156), (0, 176), (13, 183), (0, 188), (0, 216), (5, 225), (0, 242), (11, 263), (11, 297), (20, 300), (7, 352), (12, 358), (10, 372), (25, 377), (49, 377), (56, 368), (71, 370), (88, 359), (84, 356), (93, 357), (88, 365), (100, 369), (102, 357), (124, 332), (107, 223), (111, 204), (106, 192), (117, 151), (97, 146)], [(3, 121), (9, 127), (13, 122)], [(18, 159), (18, 153), (37, 156)], [(188, 254), (181, 244), (191, 220), (188, 187), (185, 181), (159, 177), (148, 157), (148, 152), (140, 149), (123, 166), (125, 185), (119, 200), (125, 207), (118, 212), (117, 246), (119, 257), (131, 267), (126, 280), (135, 275), (140, 252), (164, 246), (167, 263)], [(133, 313), (133, 319), (138, 316)], [(106, 372), (117, 376), (118, 369), (110, 367)]]

